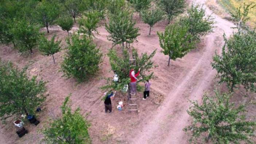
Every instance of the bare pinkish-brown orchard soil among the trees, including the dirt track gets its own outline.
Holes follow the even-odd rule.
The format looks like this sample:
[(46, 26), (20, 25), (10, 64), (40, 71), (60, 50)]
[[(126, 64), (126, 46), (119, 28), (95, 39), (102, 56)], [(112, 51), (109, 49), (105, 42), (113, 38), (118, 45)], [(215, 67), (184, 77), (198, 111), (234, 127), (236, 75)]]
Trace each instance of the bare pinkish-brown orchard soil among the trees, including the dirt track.
[[(190, 1), (191, 2), (191, 1)], [(194, 1), (205, 3), (206, 0)], [(210, 9), (206, 8), (207, 14), (212, 14)], [(151, 53), (157, 49), (153, 58), (154, 63), (158, 65), (154, 69), (157, 77), (152, 80), (150, 98), (142, 100), (143, 93), (139, 93), (139, 114), (129, 113), (127, 106), (127, 95), (116, 94), (112, 101), (113, 113), (104, 112), (104, 102), (101, 101), (104, 91), (99, 88), (105, 84), (104, 77), (112, 77), (113, 72), (109, 65), (109, 58), (106, 53), (112, 47), (112, 42), (107, 40), (108, 32), (104, 28), (104, 22), (98, 28), (99, 35), (95, 35), (94, 42), (104, 54), (100, 71), (96, 77), (88, 79), (83, 83), (78, 83), (75, 79), (62, 77), (63, 73), (59, 71), (63, 60), (65, 50), (55, 54), (56, 64), (52, 57), (45, 57), (38, 51), (34, 54), (19, 54), (10, 46), (0, 45), (0, 58), (3, 61), (11, 60), (16, 66), (22, 68), (29, 65), (28, 73), (38, 75), (47, 81), (47, 101), (42, 106), (42, 112), (38, 119), (40, 124), (34, 126), (27, 124), (25, 128), (29, 133), (22, 138), (16, 135), (16, 128), (13, 120), (8, 120), (7, 124), (0, 125), (0, 144), (36, 144), (40, 142), (43, 135), (40, 129), (46, 124), (49, 117), (58, 117), (61, 114), (59, 107), (62, 105), (65, 97), (72, 93), (72, 108), (81, 108), (81, 113), (85, 116), (89, 113), (88, 119), (92, 126), (89, 129), (92, 143), (188, 143), (188, 136), (182, 129), (190, 124), (191, 118), (186, 110), (190, 106), (189, 100), (201, 100), (203, 93), (212, 92), (214, 87), (222, 91), (227, 91), (225, 85), (216, 85), (216, 71), (212, 70), (210, 62), (215, 54), (221, 52), (223, 46), (223, 32), (227, 36), (231, 35), (233, 24), (220, 16), (212, 14), (216, 18), (216, 28), (213, 33), (203, 37), (201, 43), (195, 50), (190, 51), (182, 59), (171, 61), (170, 67), (167, 66), (168, 56), (161, 53), (159, 39), (156, 31), (164, 31), (167, 26), (167, 20), (160, 21), (152, 28), (151, 35), (148, 35), (149, 26), (144, 24), (139, 15), (133, 17), (136, 20), (136, 27), (140, 28), (138, 42), (132, 46), (137, 48), (139, 53)], [(78, 25), (74, 25), (72, 32), (77, 31)], [(46, 29), (42, 29), (46, 31)], [(62, 31), (60, 27), (50, 28), (51, 37), (57, 34), (59, 40), (62, 40), (65, 47), (65, 38), (67, 32)], [(116, 47), (121, 50), (120, 46)], [(143, 83), (141, 83), (143, 84)], [(247, 94), (247, 97), (244, 97)], [(246, 93), (243, 89), (236, 90), (232, 101), (236, 104), (247, 104), (248, 118), (256, 119), (256, 94)], [(116, 105), (119, 101), (124, 102), (124, 109), (118, 111)]]

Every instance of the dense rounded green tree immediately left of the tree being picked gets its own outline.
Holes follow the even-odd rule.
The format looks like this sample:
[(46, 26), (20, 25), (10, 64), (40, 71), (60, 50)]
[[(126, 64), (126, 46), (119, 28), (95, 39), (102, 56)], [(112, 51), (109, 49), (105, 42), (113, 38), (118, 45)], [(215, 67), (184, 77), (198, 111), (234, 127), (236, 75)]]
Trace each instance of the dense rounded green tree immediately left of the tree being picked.
[(67, 45), (69, 51), (61, 65), (67, 77), (73, 76), (78, 81), (84, 81), (98, 71), (102, 54), (90, 39), (72, 35), (71, 40), (67, 39)]

